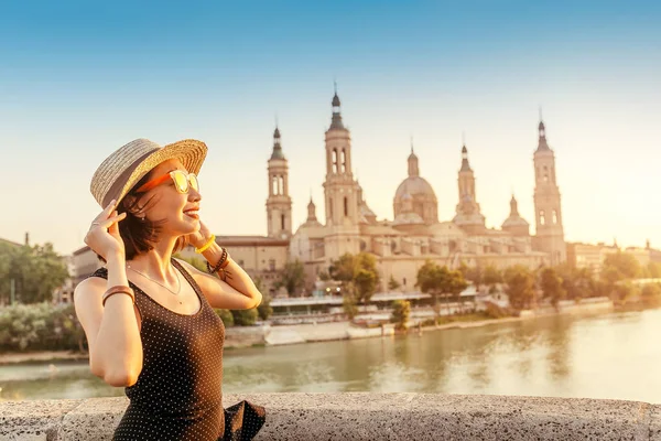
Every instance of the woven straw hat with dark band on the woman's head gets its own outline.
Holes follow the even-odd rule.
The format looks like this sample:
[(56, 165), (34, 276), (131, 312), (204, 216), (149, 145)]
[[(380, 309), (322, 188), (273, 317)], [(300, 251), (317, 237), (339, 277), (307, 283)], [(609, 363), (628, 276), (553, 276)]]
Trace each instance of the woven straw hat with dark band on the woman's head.
[(202, 141), (185, 139), (165, 147), (137, 139), (119, 148), (99, 165), (91, 178), (89, 190), (101, 207), (110, 201), (118, 203), (154, 166), (170, 159), (178, 159), (188, 173), (199, 173), (207, 147)]

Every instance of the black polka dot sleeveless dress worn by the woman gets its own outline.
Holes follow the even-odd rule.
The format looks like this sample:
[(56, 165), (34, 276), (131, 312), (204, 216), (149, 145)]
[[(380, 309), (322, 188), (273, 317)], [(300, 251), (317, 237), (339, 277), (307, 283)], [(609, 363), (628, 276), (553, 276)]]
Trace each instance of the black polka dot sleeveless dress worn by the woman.
[[(142, 318), (143, 364), (138, 381), (124, 389), (130, 404), (112, 439), (250, 440), (264, 422), (264, 410), (247, 401), (223, 408), (225, 326), (193, 277), (171, 261), (202, 306), (180, 314), (129, 282)], [(90, 277), (107, 279), (107, 269)]]

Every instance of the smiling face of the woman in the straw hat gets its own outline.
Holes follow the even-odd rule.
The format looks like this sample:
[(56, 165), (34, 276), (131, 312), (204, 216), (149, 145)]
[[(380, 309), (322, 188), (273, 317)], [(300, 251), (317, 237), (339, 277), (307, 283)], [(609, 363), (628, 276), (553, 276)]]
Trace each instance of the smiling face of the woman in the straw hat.
[[(161, 178), (173, 170), (188, 172), (178, 160), (169, 160), (160, 163), (150, 173), (148, 181)], [(144, 208), (149, 220), (165, 220), (161, 233), (169, 236), (184, 236), (199, 229), (199, 201), (202, 195), (188, 185), (187, 193), (180, 193), (174, 181), (167, 179), (162, 184), (149, 190), (140, 197), (139, 206), (151, 200)], [(191, 213), (194, 211), (194, 213)]]

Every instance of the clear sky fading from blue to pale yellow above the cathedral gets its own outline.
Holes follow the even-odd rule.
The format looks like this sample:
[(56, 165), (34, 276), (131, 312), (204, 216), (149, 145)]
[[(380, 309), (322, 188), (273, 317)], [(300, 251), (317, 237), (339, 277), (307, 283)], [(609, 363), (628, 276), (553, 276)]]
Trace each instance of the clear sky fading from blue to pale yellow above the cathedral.
[[(202, 216), (266, 234), (275, 115), (294, 226), (324, 218), (333, 80), (379, 218), (421, 174), (451, 219), (462, 133), (487, 225), (533, 224), (539, 107), (567, 240), (661, 247), (661, 2), (242, 1), (0, 4), (0, 237), (83, 244), (90, 178), (136, 138), (209, 146)], [(278, 3), (278, 4), (277, 4)]]

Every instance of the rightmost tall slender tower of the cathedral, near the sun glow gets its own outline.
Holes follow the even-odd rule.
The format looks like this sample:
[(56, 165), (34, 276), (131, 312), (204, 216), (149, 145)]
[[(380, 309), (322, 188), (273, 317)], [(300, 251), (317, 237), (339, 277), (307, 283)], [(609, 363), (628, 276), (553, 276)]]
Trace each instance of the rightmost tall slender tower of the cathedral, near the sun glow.
[(533, 154), (535, 248), (549, 254), (550, 263), (566, 260), (566, 245), (562, 226), (560, 189), (555, 181), (555, 154), (546, 142), (546, 129), (540, 118), (539, 143)]

